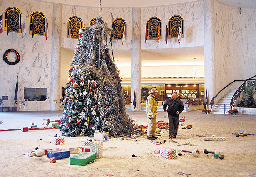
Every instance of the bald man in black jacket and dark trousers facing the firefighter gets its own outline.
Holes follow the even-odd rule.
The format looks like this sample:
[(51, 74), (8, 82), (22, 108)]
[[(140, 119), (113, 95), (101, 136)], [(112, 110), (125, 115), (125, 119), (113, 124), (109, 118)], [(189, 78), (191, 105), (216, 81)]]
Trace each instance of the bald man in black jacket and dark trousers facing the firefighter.
[[(168, 109), (166, 110), (167, 105)], [(168, 112), (170, 142), (175, 142), (174, 140), (172, 140), (172, 137), (176, 138), (179, 127), (179, 114), (181, 114), (183, 110), (183, 102), (177, 99), (177, 94), (175, 93), (173, 93), (172, 97), (168, 99), (164, 104), (164, 111)]]

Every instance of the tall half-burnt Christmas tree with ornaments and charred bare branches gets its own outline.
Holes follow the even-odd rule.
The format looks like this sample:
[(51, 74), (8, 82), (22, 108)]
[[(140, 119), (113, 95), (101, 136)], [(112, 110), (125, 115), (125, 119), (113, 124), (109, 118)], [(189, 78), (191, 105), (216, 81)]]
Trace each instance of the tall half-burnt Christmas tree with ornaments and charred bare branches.
[(99, 131), (122, 136), (133, 132), (134, 122), (125, 112), (122, 80), (109, 55), (110, 32), (100, 16), (95, 25), (79, 30), (63, 101), (60, 130), (64, 136), (92, 136)]

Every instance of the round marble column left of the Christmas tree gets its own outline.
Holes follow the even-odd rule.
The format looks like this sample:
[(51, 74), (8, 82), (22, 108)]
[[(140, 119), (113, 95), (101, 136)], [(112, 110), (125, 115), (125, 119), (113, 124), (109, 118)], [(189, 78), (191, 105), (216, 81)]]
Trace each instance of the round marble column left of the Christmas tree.
[(50, 110), (60, 110), (60, 50), (62, 5), (54, 3), (52, 13), (52, 62)]

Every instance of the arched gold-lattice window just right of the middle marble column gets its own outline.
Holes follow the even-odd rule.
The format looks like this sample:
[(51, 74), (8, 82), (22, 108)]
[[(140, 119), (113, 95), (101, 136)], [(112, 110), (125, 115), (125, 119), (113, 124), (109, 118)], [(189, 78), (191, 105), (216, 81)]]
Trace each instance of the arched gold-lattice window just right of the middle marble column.
[(147, 39), (162, 38), (162, 23), (159, 18), (152, 17), (147, 21)]

